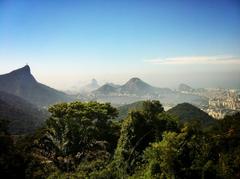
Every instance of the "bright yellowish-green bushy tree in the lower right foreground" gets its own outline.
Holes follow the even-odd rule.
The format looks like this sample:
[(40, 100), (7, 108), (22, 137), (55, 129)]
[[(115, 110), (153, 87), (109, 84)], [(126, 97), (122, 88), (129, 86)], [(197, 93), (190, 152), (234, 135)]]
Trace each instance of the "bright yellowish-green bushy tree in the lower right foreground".
[(162, 141), (146, 149), (146, 173), (148, 177), (216, 178), (210, 151), (200, 123), (186, 123), (180, 133), (166, 131)]

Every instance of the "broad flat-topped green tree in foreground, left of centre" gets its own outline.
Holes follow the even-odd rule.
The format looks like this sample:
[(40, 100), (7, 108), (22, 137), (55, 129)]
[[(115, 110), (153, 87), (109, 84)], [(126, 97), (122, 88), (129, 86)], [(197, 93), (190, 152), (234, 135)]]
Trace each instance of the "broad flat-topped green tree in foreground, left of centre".
[(111, 122), (117, 110), (109, 103), (61, 103), (50, 107), (49, 112), (39, 146), (61, 170), (73, 170), (90, 151), (117, 140)]

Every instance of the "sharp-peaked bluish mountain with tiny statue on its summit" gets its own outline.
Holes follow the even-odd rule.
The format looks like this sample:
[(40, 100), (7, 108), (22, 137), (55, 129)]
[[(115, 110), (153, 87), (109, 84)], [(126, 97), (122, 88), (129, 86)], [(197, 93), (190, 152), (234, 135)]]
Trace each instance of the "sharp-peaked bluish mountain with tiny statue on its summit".
[(37, 106), (48, 106), (71, 100), (71, 97), (65, 93), (38, 83), (28, 65), (0, 75), (0, 91), (19, 96)]

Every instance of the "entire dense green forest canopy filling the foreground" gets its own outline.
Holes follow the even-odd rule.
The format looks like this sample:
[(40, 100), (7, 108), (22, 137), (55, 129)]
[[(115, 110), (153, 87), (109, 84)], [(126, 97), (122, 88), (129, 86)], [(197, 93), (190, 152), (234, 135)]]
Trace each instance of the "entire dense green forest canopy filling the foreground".
[(109, 103), (59, 103), (33, 134), (0, 122), (1, 178), (239, 178), (240, 113), (179, 122), (159, 101), (122, 120)]

